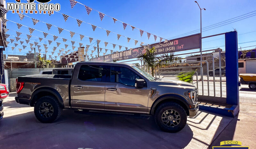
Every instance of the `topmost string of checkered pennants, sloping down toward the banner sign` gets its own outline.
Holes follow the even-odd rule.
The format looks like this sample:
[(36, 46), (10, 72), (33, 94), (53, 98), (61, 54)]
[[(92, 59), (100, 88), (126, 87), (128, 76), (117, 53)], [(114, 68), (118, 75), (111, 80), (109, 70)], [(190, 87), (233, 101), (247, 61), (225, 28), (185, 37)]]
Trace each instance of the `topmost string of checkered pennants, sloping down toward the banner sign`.
[[(155, 41), (156, 41), (156, 39), (159, 37), (159, 36), (157, 36), (157, 35), (151, 34), (151, 33), (149, 33), (149, 32), (146, 32), (146, 31), (142, 30), (142, 29), (139, 29), (139, 28), (137, 28), (137, 27), (134, 27), (134, 26), (132, 26), (132, 25), (130, 25), (130, 24), (128, 24), (128, 23), (125, 23), (125, 22), (123, 22), (123, 21), (117, 20), (117, 19), (115, 19), (115, 18), (113, 18), (113, 17), (111, 17), (111, 16), (109, 16), (109, 15), (106, 15), (106, 14), (104, 14), (104, 13), (102, 13), (102, 12), (99, 12), (99, 11), (97, 11), (97, 10), (95, 10), (95, 9), (93, 9), (93, 8), (90, 8), (90, 7), (88, 7), (88, 6), (86, 6), (86, 5), (82, 4), (82, 3), (79, 3), (79, 2), (77, 2), (77, 1), (75, 1), (75, 0), (70, 0), (71, 9), (73, 9), (73, 7), (74, 7), (77, 3), (78, 3), (78, 4), (81, 4), (81, 5), (83, 5), (83, 6), (85, 6), (85, 9), (86, 9), (86, 12), (87, 12), (88, 15), (90, 14), (90, 12), (91, 12), (92, 10), (98, 12), (98, 13), (99, 13), (99, 18), (100, 18), (101, 21), (103, 20), (103, 18), (104, 18), (105, 16), (107, 16), (107, 17), (110, 17), (111, 19), (113, 19), (114, 23), (115, 23), (116, 21), (121, 22), (121, 23), (123, 24), (124, 30), (125, 30), (125, 28), (127, 27), (127, 25), (132, 27), (132, 31), (133, 31), (135, 28), (138, 29), (138, 30), (140, 31), (141, 37), (142, 37), (142, 35), (143, 35), (144, 32), (147, 33), (148, 39), (149, 39), (150, 35), (153, 35), (153, 36), (154, 36)], [(59, 13), (60, 13), (60, 12), (59, 12)], [(66, 21), (67, 18), (68, 18), (67, 15), (65, 15), (64, 20)], [(160, 39), (160, 42), (161, 42), (162, 40), (165, 40), (165, 41), (167, 40), (167, 39), (164, 39), (164, 38), (162, 38), (162, 37), (159, 37), (159, 39)], [(168, 40), (167, 40), (167, 41), (168, 41)]]

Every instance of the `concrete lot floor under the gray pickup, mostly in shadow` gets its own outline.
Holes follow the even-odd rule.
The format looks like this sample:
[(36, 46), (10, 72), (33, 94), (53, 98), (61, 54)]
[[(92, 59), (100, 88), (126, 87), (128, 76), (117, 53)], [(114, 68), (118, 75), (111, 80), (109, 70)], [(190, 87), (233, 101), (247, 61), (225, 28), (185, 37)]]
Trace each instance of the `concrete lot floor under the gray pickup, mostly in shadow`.
[(0, 148), (207, 148), (233, 118), (200, 111), (178, 133), (158, 129), (152, 119), (92, 116), (64, 110), (51, 124), (37, 121), (33, 107), (4, 99)]

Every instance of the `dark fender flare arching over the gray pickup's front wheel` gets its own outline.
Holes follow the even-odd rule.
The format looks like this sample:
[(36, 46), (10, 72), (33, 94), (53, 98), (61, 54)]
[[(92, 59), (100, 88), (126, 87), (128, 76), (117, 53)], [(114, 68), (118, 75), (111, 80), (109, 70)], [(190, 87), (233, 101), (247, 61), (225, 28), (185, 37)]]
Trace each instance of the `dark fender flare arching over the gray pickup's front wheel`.
[(151, 115), (154, 114), (155, 108), (158, 105), (158, 103), (160, 103), (161, 101), (163, 101), (165, 99), (175, 99), (175, 100), (178, 100), (178, 101), (180, 101), (181, 103), (183, 103), (186, 106), (185, 111), (187, 111), (187, 109), (189, 109), (189, 104), (187, 103), (187, 99), (185, 99), (184, 97), (182, 97), (180, 95), (177, 95), (177, 94), (165, 94), (165, 95), (162, 95), (162, 96), (158, 97), (154, 101), (154, 103), (152, 104), (152, 106), (150, 108), (150, 112), (149, 113)]

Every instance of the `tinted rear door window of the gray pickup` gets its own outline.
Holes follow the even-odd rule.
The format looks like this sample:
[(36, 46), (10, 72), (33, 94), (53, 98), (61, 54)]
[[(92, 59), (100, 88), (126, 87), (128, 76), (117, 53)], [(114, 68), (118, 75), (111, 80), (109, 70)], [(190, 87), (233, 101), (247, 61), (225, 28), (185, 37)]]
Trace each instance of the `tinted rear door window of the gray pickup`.
[(103, 81), (102, 76), (105, 74), (103, 66), (82, 65), (78, 73), (78, 79), (82, 81)]

